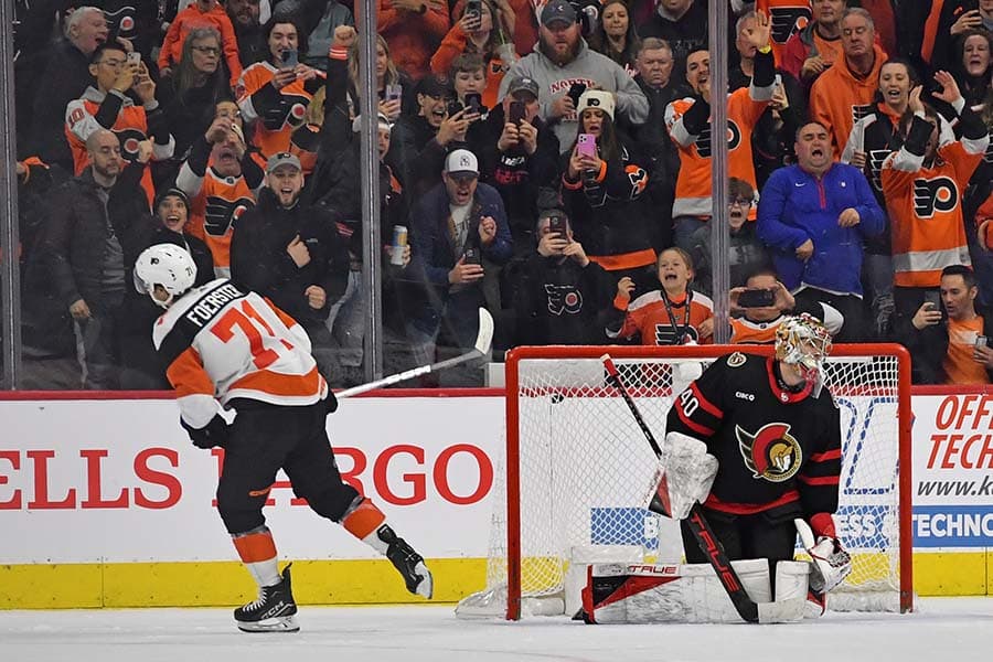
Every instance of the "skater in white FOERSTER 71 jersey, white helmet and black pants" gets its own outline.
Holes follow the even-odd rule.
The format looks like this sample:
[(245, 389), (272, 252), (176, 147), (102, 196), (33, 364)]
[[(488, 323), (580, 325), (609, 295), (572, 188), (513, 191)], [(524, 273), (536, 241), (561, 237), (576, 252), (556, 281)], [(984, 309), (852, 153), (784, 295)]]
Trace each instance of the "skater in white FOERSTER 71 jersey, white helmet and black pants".
[[(238, 628), (300, 629), (289, 566), (279, 572), (263, 515), (280, 469), (316, 513), (385, 554), (407, 590), (430, 598), (424, 558), (341, 479), (325, 423), (338, 404), (307, 333), (268, 299), (226, 279), (192, 289), (195, 277), (193, 258), (173, 244), (146, 249), (135, 264), (138, 291), (166, 309), (152, 340), (175, 388), (180, 424), (197, 448), (224, 449), (217, 511), (258, 584), (258, 599), (234, 611)], [(234, 423), (222, 417), (221, 407), (237, 413)]]

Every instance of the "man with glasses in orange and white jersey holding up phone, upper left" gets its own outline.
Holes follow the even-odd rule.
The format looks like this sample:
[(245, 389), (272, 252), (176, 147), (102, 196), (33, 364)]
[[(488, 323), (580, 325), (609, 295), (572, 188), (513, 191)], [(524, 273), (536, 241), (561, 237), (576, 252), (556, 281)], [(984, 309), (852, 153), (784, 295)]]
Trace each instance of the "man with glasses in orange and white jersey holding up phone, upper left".
[[(128, 53), (116, 42), (97, 46), (89, 60), (89, 73), (96, 86), (87, 87), (82, 98), (70, 102), (65, 108), (65, 137), (73, 152), (75, 174), (89, 166), (86, 139), (99, 129), (110, 129), (120, 140), (120, 156), (125, 161), (146, 163), (141, 188), (151, 206), (156, 190), (142, 143), (154, 139), (151, 159), (156, 161), (171, 157), (175, 146), (166, 115), (156, 100), (156, 84), (145, 63), (130, 62)], [(127, 96), (129, 90), (138, 95), (141, 106)]]

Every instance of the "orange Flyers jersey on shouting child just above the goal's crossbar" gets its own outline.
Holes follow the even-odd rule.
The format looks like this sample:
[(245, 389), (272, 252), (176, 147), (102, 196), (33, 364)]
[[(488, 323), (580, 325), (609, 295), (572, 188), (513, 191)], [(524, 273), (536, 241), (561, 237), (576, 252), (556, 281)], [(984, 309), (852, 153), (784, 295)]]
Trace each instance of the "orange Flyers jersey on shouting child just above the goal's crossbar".
[(675, 345), (687, 342), (709, 343), (702, 339), (700, 325), (714, 317), (714, 301), (705, 295), (690, 292), (680, 299), (669, 299), (662, 290), (641, 295), (628, 306), (620, 330), (607, 329), (609, 338), (641, 335), (643, 345)]

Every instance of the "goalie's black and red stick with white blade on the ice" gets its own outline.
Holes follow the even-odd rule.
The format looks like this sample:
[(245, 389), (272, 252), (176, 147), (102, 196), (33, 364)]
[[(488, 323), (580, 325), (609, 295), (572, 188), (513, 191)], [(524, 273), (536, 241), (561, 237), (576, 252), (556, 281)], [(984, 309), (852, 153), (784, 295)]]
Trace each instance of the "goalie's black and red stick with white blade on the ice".
[[(634, 421), (638, 424), (638, 427), (641, 428), (649, 446), (652, 447), (655, 456), (661, 459), (662, 448), (659, 446), (655, 436), (652, 434), (652, 430), (649, 429), (648, 424), (641, 416), (641, 412), (638, 409), (638, 405), (634, 404), (634, 399), (628, 392), (627, 386), (624, 386), (624, 383), (621, 381), (620, 373), (613, 364), (610, 354), (604, 354), (600, 356), (600, 360), (604, 362), (604, 367), (607, 370), (607, 382), (620, 393), (624, 404), (628, 405), (628, 409), (631, 412), (631, 416), (634, 417)], [(727, 591), (727, 597), (730, 598), (732, 604), (735, 606), (735, 610), (743, 620), (749, 623), (781, 623), (794, 620), (798, 612), (802, 613), (803, 598), (757, 604), (748, 596), (748, 592), (741, 585), (741, 580), (738, 578), (738, 574), (727, 558), (724, 545), (722, 545), (720, 541), (717, 540), (717, 536), (714, 535), (714, 531), (711, 528), (711, 524), (707, 522), (700, 503), (693, 504), (693, 508), (690, 510), (690, 516), (686, 517), (686, 522), (690, 524), (690, 531), (693, 532), (693, 537), (696, 538), (696, 543), (707, 557), (707, 562), (714, 568), (717, 578), (720, 580), (720, 585), (724, 587), (724, 590)]]

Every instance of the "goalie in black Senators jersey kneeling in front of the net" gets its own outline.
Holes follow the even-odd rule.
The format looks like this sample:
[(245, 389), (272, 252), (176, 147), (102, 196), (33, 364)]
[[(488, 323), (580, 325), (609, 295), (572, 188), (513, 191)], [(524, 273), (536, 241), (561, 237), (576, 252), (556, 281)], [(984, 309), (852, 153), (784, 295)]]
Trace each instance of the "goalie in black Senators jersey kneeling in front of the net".
[[(823, 610), (823, 594), (847, 576), (852, 564), (837, 541), (832, 515), (841, 473), (841, 418), (822, 388), (831, 335), (809, 314), (788, 318), (776, 332), (776, 355), (735, 352), (716, 361), (676, 398), (669, 435), (701, 439), (717, 458), (709, 494), (701, 500), (730, 559), (791, 560), (801, 523), (816, 543), (810, 586)], [(687, 563), (706, 557), (684, 521)]]

